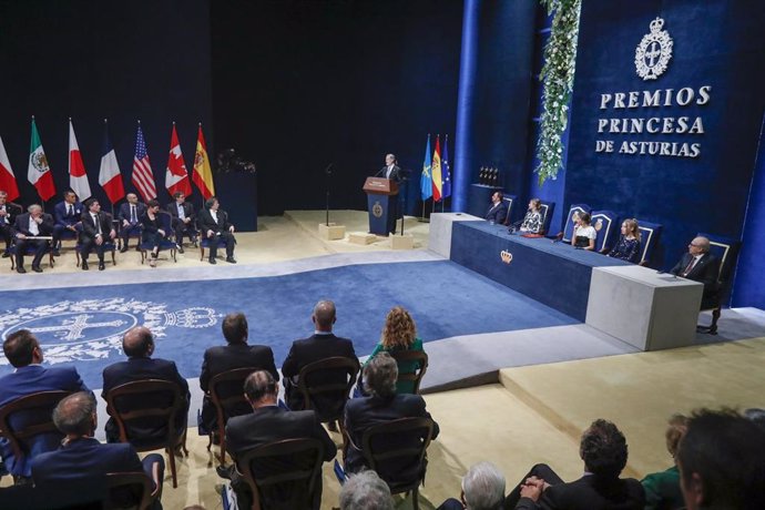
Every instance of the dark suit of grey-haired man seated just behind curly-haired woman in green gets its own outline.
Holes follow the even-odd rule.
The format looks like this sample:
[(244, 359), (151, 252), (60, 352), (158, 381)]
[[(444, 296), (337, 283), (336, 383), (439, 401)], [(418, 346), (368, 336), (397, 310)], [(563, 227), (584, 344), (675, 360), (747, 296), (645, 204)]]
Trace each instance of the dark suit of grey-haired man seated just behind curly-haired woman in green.
[[(350, 445), (345, 452), (346, 472), (358, 472), (369, 468), (361, 453), (364, 432), (369, 427), (399, 418), (430, 418), (430, 414), (425, 410), (422, 397), (419, 395), (399, 394), (387, 398), (365, 397), (348, 400), (345, 406), (345, 429), (350, 438)], [(438, 424), (434, 421), (431, 439), (436, 439), (438, 432)], [(419, 445), (419, 440), (416, 438), (402, 439), (402, 441), (397, 441), (389, 446), (391, 448), (402, 448), (405, 446), (416, 448)], [(378, 475), (387, 481), (409, 480), (421, 469), (421, 466), (402, 466), (398, 462), (378, 467)]]

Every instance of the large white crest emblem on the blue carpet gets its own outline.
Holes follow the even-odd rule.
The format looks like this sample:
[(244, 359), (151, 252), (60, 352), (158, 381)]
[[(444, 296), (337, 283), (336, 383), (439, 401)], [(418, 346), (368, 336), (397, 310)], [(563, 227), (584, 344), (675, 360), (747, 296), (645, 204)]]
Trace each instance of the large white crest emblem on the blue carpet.
[[(163, 338), (169, 328), (207, 328), (222, 317), (213, 308), (166, 308), (163, 303), (121, 297), (65, 300), (0, 313), (0, 330), (3, 340), (19, 329), (31, 330), (45, 361), (58, 364), (108, 358), (121, 351), (122, 335), (133, 326), (146, 326), (156, 338)], [(0, 365), (8, 365), (4, 356), (0, 356)]]

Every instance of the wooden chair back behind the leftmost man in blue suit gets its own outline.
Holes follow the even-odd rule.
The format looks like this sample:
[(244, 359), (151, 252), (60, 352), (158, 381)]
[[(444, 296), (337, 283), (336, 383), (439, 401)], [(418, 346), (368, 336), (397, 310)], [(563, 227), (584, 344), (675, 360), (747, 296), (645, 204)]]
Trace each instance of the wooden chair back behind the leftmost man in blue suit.
[(8, 439), (13, 457), (22, 459), (27, 445), (40, 435), (64, 435), (53, 425), (53, 408), (71, 391), (39, 391), (0, 407), (0, 436)]

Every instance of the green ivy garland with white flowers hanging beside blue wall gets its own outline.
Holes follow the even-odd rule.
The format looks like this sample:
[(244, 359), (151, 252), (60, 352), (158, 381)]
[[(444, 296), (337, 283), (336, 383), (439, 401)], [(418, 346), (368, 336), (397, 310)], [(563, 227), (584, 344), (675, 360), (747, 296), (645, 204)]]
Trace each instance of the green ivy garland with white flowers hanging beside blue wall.
[(544, 47), (544, 65), (540, 73), (544, 82), (543, 111), (537, 146), (540, 186), (548, 178), (558, 177), (563, 166), (563, 143), (561, 135), (568, 122), (569, 101), (573, 89), (574, 64), (577, 62), (577, 38), (579, 35), (579, 10), (581, 0), (540, 0), (552, 19), (552, 32)]

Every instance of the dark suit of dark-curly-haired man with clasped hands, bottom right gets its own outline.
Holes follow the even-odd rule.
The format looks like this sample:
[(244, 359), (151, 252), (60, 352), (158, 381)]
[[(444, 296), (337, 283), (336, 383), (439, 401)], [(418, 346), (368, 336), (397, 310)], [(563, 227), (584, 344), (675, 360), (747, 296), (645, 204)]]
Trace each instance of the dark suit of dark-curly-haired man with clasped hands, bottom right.
[(506, 509), (521, 510), (643, 510), (645, 493), (638, 480), (632, 478), (604, 479), (585, 475), (577, 481), (563, 482), (547, 465), (534, 466), (523, 477), (542, 478), (551, 483), (537, 502), (520, 497), (520, 488), (506, 500)]

